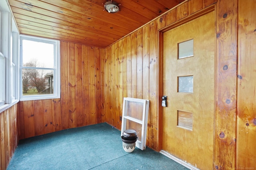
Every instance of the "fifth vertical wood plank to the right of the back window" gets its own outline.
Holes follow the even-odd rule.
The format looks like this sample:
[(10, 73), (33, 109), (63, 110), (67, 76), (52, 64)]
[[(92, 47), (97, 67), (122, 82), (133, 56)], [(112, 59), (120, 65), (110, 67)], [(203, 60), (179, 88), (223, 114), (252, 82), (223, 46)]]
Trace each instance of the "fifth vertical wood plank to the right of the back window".
[(94, 47), (88, 49), (89, 57), (89, 124), (93, 125), (96, 123), (95, 113), (95, 62), (94, 62)]

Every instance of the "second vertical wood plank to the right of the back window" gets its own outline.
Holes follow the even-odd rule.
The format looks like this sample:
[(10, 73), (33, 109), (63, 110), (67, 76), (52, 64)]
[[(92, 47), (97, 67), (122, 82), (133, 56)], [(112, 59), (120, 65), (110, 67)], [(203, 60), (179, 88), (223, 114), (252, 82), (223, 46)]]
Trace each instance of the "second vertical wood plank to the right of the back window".
[(76, 127), (76, 51), (74, 43), (68, 43), (68, 111), (68, 127)]

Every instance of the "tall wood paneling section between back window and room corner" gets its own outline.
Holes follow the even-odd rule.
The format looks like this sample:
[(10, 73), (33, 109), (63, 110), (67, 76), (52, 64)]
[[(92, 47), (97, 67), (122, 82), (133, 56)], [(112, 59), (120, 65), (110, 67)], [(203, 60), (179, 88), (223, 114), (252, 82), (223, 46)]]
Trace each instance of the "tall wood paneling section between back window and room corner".
[(104, 49), (61, 42), (62, 129), (101, 123)]

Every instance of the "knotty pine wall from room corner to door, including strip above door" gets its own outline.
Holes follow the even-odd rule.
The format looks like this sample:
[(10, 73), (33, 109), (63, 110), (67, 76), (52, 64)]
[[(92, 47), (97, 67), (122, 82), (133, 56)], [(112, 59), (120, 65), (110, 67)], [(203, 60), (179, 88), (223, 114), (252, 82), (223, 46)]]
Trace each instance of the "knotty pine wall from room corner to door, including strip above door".
[[(124, 97), (150, 100), (147, 146), (161, 149), (161, 115), (158, 110), (159, 57), (158, 31), (168, 25), (180, 24), (186, 17), (209, 8), (216, 0), (189, 0), (168, 13), (137, 29), (106, 48), (105, 102), (102, 120), (121, 129)], [(212, 7), (213, 8), (213, 7)], [(162, 107), (160, 107), (162, 108)], [(160, 116), (159, 116), (160, 115)]]

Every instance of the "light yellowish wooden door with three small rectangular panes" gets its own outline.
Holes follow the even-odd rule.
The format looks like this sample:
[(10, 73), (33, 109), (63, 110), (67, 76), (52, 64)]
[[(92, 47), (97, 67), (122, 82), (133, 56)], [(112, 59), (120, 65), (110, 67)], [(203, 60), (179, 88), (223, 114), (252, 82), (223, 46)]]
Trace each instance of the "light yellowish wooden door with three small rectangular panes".
[(214, 12), (163, 33), (162, 149), (212, 169), (214, 141)]

